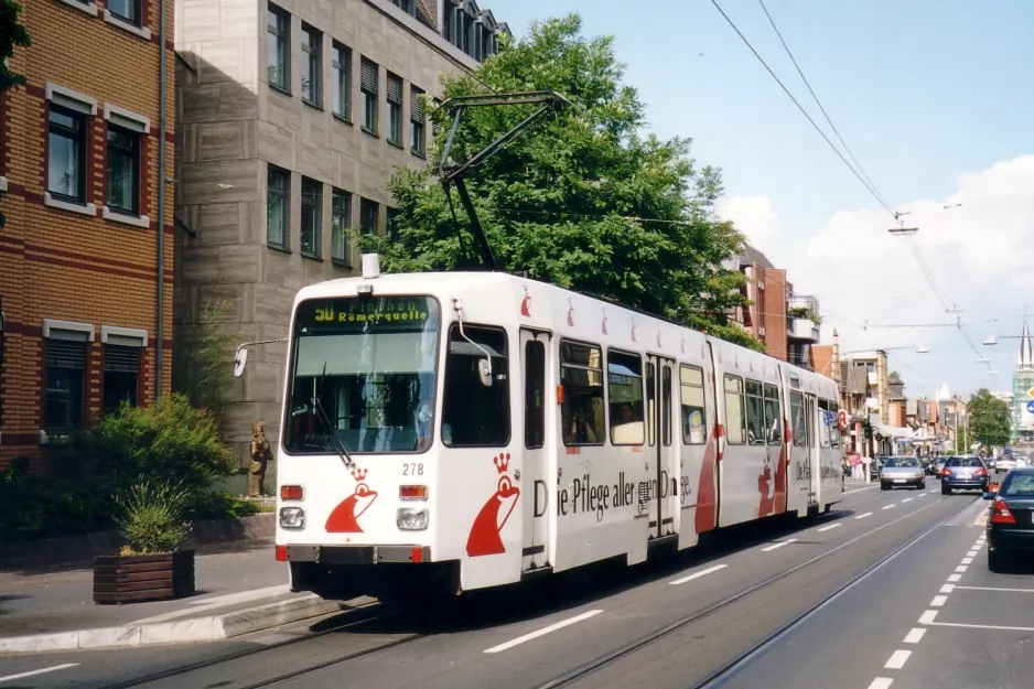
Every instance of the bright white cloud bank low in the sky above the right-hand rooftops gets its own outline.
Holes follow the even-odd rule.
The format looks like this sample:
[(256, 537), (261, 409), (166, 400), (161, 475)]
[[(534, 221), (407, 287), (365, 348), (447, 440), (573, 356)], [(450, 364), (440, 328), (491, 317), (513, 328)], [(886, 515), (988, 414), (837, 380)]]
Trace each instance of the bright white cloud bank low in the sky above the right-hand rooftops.
[[(961, 205), (957, 205), (961, 204)], [(947, 206), (947, 207), (946, 207)], [(945, 200), (901, 204), (902, 220), (919, 232), (905, 239), (883, 209), (841, 212), (804, 243), (780, 236), (778, 216), (765, 196), (730, 198), (721, 207), (751, 241), (788, 271), (799, 293), (817, 297), (825, 314), (823, 341), (832, 329), (842, 351), (923, 344), (927, 355), (892, 354), (913, 391), (933, 395), (947, 381), (952, 391), (1011, 385), (1019, 341), (983, 347), (987, 335), (1017, 335), (1024, 312), (1034, 313), (1034, 155), (960, 174)], [(955, 315), (935, 295), (912, 248), (923, 257), (949, 306), (962, 309), (977, 354), (955, 327), (869, 329), (881, 324), (948, 323)], [(989, 319), (1001, 319), (989, 323)], [(1006, 320), (1009, 319), (1009, 320)], [(1032, 319), (1034, 320), (1034, 319)], [(896, 360), (893, 360), (896, 359)], [(911, 368), (909, 368), (911, 367)]]

